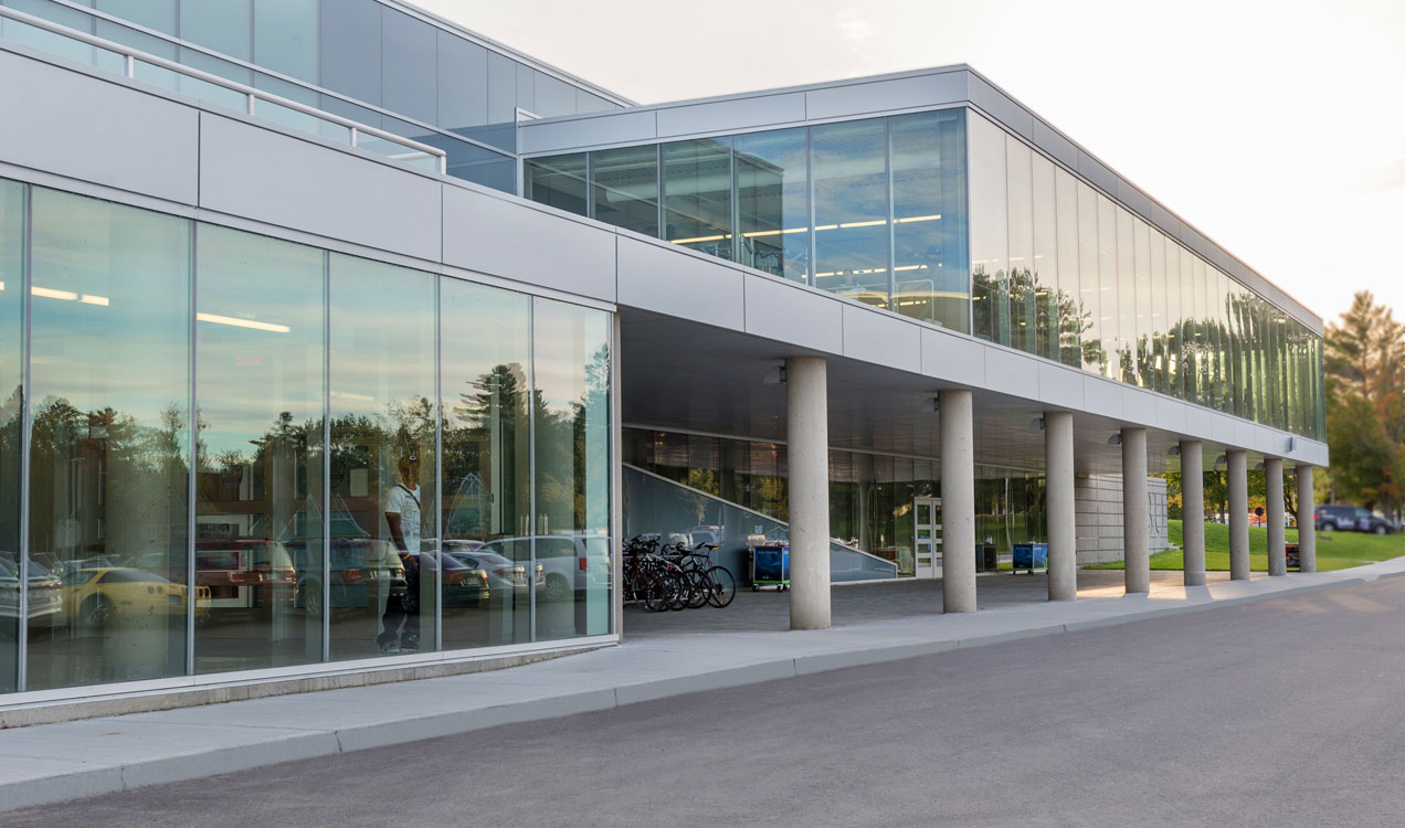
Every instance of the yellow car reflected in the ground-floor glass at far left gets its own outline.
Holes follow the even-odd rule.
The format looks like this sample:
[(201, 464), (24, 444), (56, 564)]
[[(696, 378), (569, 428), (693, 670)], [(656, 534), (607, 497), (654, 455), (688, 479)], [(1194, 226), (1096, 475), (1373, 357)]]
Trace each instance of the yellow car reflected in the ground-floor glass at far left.
[[(185, 585), (128, 567), (74, 570), (63, 575), (63, 608), (70, 626), (108, 625), (185, 615)], [(209, 587), (195, 588), (195, 615), (209, 612)]]

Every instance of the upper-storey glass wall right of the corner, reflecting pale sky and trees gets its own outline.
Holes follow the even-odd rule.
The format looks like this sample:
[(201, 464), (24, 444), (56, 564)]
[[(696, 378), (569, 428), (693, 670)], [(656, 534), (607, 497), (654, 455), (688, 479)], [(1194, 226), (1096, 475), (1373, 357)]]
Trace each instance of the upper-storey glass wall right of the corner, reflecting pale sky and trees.
[(1321, 337), (989, 121), (969, 135), (976, 337), (1322, 439)]

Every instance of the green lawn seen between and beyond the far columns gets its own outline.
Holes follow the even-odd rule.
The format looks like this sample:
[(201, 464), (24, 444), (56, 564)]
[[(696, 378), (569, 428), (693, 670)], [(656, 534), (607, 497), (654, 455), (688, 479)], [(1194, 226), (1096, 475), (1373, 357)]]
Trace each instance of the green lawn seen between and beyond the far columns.
[[(1288, 529), (1287, 540), (1297, 540), (1298, 530)], [(1318, 532), (1318, 571), (1345, 570), (1405, 554), (1405, 535), (1361, 535), (1359, 532)], [(1180, 521), (1170, 521), (1170, 542), (1182, 545)], [(1249, 526), (1249, 567), (1256, 573), (1269, 571), (1269, 529)], [(1120, 570), (1123, 563), (1094, 564), (1090, 570)], [(1184, 568), (1180, 549), (1169, 549), (1151, 556), (1154, 570)], [(1229, 571), (1229, 526), (1205, 523), (1205, 568)]]

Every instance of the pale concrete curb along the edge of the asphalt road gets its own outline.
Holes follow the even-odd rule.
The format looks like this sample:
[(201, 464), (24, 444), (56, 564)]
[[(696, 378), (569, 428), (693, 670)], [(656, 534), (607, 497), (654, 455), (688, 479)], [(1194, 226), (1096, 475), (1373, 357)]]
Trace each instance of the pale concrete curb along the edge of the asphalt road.
[(903, 643), (882, 647), (867, 647), (847, 653), (777, 658), (729, 669), (663, 678), (632, 685), (620, 685), (601, 690), (565, 693), (545, 699), (532, 699), (528, 702), (499, 705), (486, 709), (457, 710), (452, 713), (440, 713), (364, 727), (309, 730), (303, 734), (281, 737), (271, 742), (222, 748), (205, 754), (164, 756), (131, 765), (94, 765), (91, 769), (62, 772), (53, 776), (42, 776), (42, 768), (35, 768), (39, 775), (31, 779), (20, 779), (0, 784), (0, 813), (110, 793), (121, 793), (152, 784), (204, 779), (221, 773), (233, 773), (237, 770), (250, 770), (254, 768), (278, 765), (281, 762), (316, 759), (337, 754), (347, 754), (351, 751), (409, 744), (444, 735), (459, 735), (503, 724), (545, 721), (565, 716), (575, 716), (577, 713), (597, 713), (642, 702), (683, 696), (687, 693), (756, 685), (802, 675), (830, 672), (850, 667), (884, 664), (948, 653), (953, 650), (986, 647), (1006, 641), (1097, 630), (1141, 620), (1151, 620), (1154, 617), (1182, 615), (1221, 606), (1256, 603), (1259, 601), (1269, 601), (1273, 598), (1302, 595), (1321, 589), (1333, 589), (1338, 587), (1350, 587), (1364, 584), (1367, 581), (1397, 577), (1405, 577), (1405, 571), (1390, 573), (1378, 577), (1342, 578), (1324, 584), (1305, 584), (1301, 587), (1264, 592), (1262, 595), (1241, 595), (1220, 601), (1204, 599), (1196, 601), (1194, 603), (1145, 609), (1139, 612), (1128, 612), (1078, 622), (1043, 625), (1024, 630), (1009, 630), (969, 639)]

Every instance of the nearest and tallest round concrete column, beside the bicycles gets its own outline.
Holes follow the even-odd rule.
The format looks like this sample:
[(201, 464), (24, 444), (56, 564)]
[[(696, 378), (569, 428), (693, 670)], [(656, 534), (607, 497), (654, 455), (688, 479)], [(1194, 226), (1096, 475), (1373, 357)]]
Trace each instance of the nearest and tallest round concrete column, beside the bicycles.
[(829, 387), (823, 356), (785, 359), (791, 629), (829, 629)]

